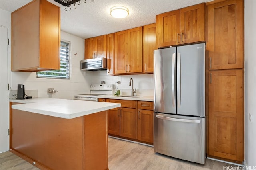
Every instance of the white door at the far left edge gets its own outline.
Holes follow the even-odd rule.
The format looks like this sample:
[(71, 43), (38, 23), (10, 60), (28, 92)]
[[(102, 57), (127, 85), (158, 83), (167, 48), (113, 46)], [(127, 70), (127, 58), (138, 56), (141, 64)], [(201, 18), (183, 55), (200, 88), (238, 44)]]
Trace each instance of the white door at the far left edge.
[(8, 149), (8, 28), (0, 26), (0, 153)]

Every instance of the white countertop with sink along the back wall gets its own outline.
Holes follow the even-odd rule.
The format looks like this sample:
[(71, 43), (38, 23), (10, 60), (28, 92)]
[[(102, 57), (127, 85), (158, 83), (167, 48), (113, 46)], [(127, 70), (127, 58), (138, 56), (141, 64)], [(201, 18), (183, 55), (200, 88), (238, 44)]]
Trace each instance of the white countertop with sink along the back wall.
[(139, 100), (139, 101), (154, 101), (154, 96), (137, 96), (137, 97), (122, 97), (122, 96), (113, 96), (113, 95), (100, 95), (97, 96), (98, 98), (104, 98), (104, 99), (122, 99), (122, 100)]

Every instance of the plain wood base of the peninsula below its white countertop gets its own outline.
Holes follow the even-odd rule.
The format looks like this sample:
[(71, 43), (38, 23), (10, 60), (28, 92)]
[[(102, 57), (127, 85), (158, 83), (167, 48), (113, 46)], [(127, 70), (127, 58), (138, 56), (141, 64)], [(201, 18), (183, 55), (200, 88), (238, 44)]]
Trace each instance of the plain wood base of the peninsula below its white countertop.
[(107, 116), (63, 119), (11, 109), (10, 151), (40, 169), (107, 170)]

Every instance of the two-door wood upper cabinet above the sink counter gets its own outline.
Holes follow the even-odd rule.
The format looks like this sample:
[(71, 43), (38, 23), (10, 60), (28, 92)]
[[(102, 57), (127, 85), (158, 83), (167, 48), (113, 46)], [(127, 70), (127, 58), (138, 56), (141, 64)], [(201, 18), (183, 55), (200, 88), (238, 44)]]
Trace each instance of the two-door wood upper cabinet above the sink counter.
[(115, 33), (115, 74), (142, 73), (142, 27)]

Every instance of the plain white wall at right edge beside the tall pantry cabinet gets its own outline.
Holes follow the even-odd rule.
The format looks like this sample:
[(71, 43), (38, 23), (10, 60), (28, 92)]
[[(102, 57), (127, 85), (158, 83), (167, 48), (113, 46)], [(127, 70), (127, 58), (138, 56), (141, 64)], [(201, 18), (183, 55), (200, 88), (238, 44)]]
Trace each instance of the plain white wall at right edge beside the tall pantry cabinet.
[(245, 161), (256, 166), (256, 1), (245, 0), (244, 4)]

